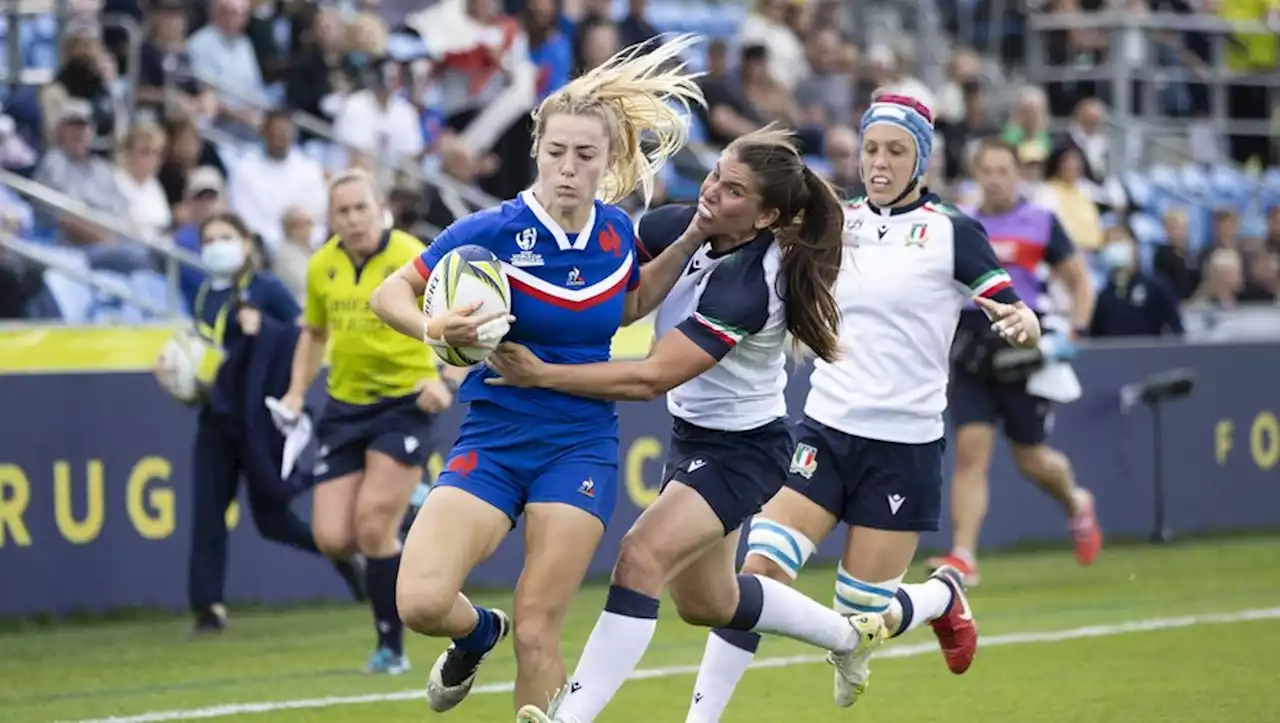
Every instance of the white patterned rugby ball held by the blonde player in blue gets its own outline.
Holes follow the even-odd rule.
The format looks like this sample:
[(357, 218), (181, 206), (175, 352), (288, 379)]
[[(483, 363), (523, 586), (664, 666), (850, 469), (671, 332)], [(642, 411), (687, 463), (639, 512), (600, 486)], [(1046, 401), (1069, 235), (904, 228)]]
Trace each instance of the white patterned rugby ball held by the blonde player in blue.
[[(488, 248), (467, 244), (444, 255), (422, 293), (422, 311), (428, 316), (449, 308), (480, 303), (477, 316), (488, 316), (511, 308), (511, 284), (502, 261)], [(431, 347), (449, 366), (472, 366), (489, 358), (488, 347)]]

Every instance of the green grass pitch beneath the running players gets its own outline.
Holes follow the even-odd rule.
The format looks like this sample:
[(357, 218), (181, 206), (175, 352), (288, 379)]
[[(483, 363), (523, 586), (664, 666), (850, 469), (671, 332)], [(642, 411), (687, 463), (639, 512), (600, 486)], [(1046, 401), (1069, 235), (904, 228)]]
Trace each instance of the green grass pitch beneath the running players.
[[(1280, 607), (1276, 537), (1212, 540), (1167, 548), (1124, 546), (1080, 569), (1065, 552), (991, 557), (972, 601), (984, 636), (1107, 626), (1126, 621)], [(913, 580), (918, 578), (913, 573)], [(812, 568), (800, 585), (831, 598), (832, 571)], [(603, 587), (577, 598), (564, 650), (572, 668), (603, 603)], [(509, 596), (484, 603), (509, 605)], [(508, 608), (509, 609), (509, 608)], [(358, 607), (233, 610), (218, 639), (191, 640), (186, 618), (27, 626), (0, 633), (0, 719), (77, 720), (232, 703), (356, 696), (420, 688), (439, 641), (413, 637), (416, 668), (399, 678), (355, 672), (372, 626)], [(932, 641), (928, 628), (901, 644)], [(705, 631), (664, 605), (644, 668), (696, 664)], [(892, 642), (891, 645), (897, 645)], [(852, 711), (831, 704), (831, 669), (800, 664), (755, 669), (724, 717), (819, 723), (856, 715), (927, 722), (1243, 723), (1280, 722), (1276, 682), (1280, 621), (1267, 619), (1106, 637), (983, 649), (973, 669), (951, 676), (932, 650), (886, 658)], [(810, 654), (767, 639), (760, 656)], [(481, 683), (511, 681), (507, 646), (485, 664)], [(628, 682), (602, 723), (684, 720), (692, 677)], [(420, 720), (420, 700), (242, 714), (261, 723)], [(509, 694), (475, 695), (449, 714), (457, 723), (512, 720)]]

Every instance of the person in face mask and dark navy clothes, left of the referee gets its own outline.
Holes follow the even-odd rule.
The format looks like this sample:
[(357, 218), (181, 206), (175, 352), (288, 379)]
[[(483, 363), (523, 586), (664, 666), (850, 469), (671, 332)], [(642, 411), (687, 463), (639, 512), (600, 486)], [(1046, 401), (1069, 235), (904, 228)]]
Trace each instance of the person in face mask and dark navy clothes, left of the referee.
[[(271, 426), (265, 398), (289, 384), (298, 338), (297, 302), (275, 276), (257, 270), (252, 234), (234, 214), (215, 214), (200, 226), (200, 257), (209, 278), (192, 308), (197, 334), (216, 361), (197, 377), (207, 389), (196, 422), (192, 456), (192, 540), (187, 594), (196, 632), (227, 627), (227, 508), (239, 479), (248, 485), (253, 523), (268, 540), (319, 554), (311, 530), (289, 507), (308, 485), (306, 475), (280, 479), (284, 438)], [(172, 370), (157, 361), (161, 381)], [(355, 596), (364, 595), (358, 560), (335, 563)]]

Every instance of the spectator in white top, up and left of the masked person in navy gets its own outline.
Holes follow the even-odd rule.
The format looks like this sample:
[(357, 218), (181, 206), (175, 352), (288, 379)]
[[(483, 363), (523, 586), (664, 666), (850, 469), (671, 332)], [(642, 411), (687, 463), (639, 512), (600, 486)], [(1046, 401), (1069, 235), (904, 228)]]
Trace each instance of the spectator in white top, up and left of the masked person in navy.
[(124, 196), (133, 228), (151, 241), (161, 241), (173, 225), (169, 198), (157, 174), (164, 160), (165, 137), (159, 125), (129, 128), (116, 154), (115, 183)]

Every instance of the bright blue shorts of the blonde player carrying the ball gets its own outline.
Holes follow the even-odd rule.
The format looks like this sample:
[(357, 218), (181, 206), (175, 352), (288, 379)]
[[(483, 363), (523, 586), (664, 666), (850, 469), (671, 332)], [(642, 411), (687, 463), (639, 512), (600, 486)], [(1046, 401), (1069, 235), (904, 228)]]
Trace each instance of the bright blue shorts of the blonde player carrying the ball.
[(512, 525), (526, 504), (558, 502), (608, 526), (618, 499), (617, 418), (550, 422), (472, 402), (435, 484), (488, 502)]

